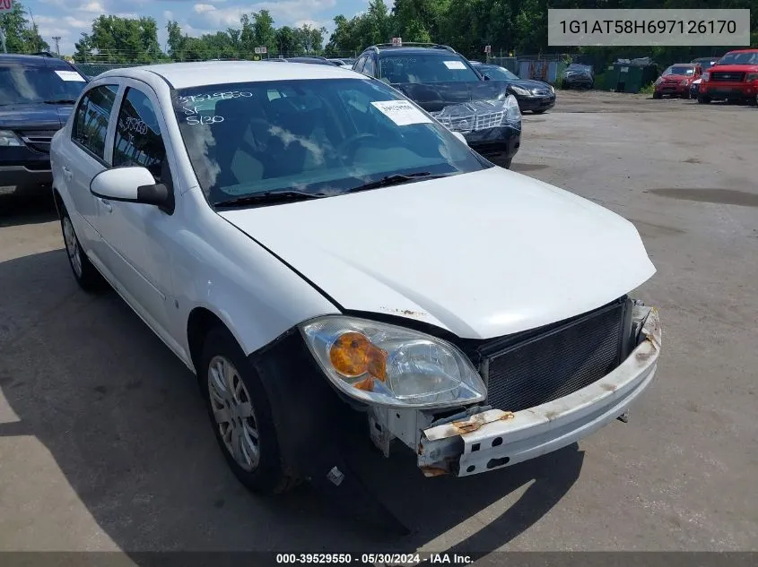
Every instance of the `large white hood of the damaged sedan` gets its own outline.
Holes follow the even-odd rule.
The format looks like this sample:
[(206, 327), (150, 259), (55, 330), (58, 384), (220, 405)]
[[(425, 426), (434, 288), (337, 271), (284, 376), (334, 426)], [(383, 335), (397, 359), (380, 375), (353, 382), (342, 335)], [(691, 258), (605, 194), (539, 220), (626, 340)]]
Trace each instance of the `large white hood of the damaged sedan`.
[(219, 214), (345, 310), (461, 338), (562, 321), (655, 273), (631, 222), (501, 168)]

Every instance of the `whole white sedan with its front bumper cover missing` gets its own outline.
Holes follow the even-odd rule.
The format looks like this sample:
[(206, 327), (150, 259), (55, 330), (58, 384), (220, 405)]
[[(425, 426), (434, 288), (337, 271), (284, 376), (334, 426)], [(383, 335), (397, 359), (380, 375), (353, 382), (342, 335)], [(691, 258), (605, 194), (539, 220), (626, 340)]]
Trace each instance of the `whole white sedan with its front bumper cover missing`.
[(362, 74), (109, 71), (51, 161), (74, 278), (115, 288), (196, 374), (258, 492), (341, 484), (355, 420), (426, 476), (510, 466), (623, 417), (655, 374), (632, 223)]

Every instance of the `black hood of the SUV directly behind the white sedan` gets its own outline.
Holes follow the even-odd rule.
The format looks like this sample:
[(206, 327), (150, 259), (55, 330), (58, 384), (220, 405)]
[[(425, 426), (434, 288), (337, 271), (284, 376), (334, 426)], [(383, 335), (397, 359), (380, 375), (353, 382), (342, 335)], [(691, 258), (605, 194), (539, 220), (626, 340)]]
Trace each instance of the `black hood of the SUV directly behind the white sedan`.
[(496, 100), (507, 94), (508, 84), (507, 81), (399, 82), (392, 86), (427, 112), (437, 112), (451, 104)]

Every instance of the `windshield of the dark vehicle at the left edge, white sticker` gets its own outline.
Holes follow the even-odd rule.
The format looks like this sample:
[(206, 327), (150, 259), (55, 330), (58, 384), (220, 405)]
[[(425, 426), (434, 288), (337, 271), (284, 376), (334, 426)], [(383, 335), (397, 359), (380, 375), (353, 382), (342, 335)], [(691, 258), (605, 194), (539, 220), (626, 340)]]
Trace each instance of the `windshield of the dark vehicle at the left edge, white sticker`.
[(86, 84), (73, 69), (0, 65), (0, 105), (75, 100)]

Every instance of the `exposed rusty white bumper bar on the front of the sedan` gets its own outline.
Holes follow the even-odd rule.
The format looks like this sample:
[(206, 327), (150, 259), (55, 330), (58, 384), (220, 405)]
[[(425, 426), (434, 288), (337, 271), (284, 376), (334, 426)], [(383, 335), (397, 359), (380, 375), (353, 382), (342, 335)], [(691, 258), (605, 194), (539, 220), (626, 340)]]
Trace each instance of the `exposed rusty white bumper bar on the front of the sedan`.
[(652, 381), (661, 348), (655, 308), (637, 305), (639, 343), (623, 362), (597, 382), (551, 402), (517, 412), (469, 408), (462, 415), (433, 421), (419, 411), (376, 410), (371, 436), (388, 454), (393, 436), (412, 447), (427, 477), (466, 477), (514, 465), (556, 451), (625, 417), (634, 399)]

